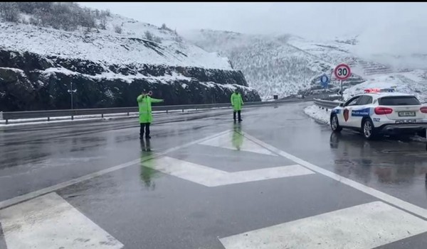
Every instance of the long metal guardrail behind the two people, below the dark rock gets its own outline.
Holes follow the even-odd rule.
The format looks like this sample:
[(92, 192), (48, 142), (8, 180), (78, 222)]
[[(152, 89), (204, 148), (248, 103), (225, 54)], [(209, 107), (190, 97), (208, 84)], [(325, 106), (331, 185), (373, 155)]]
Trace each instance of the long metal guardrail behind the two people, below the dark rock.
[[(268, 104), (280, 104), (301, 101), (301, 99), (286, 99), (278, 101), (260, 101), (260, 102), (246, 102), (244, 106), (262, 106)], [(188, 110), (188, 109), (212, 109), (212, 108), (231, 108), (230, 103), (218, 103), (218, 104), (186, 104), (186, 105), (173, 105), (173, 106), (152, 106), (152, 111), (176, 111), (176, 110)], [(102, 108), (102, 109), (67, 109), (67, 110), (48, 110), (48, 111), (6, 111), (0, 112), (0, 120), (9, 123), (11, 119), (25, 119), (25, 118), (47, 118), (50, 121), (53, 117), (65, 117), (70, 116), (73, 120), (74, 116), (87, 116), (87, 115), (100, 115), (102, 118), (105, 114), (127, 114), (130, 116), (131, 113), (137, 113), (138, 107), (117, 107), (117, 108)]]

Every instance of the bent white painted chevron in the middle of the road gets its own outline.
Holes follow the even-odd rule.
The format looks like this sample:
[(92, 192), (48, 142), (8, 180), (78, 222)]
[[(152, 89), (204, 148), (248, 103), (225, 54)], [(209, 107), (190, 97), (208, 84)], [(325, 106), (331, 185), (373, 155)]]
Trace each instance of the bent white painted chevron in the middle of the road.
[[(153, 165), (153, 162), (150, 162), (150, 165)], [(154, 170), (159, 170), (165, 174), (173, 175), (191, 182), (196, 182), (206, 187), (315, 174), (315, 172), (300, 165), (226, 172), (167, 156), (155, 159), (154, 165), (156, 165)]]

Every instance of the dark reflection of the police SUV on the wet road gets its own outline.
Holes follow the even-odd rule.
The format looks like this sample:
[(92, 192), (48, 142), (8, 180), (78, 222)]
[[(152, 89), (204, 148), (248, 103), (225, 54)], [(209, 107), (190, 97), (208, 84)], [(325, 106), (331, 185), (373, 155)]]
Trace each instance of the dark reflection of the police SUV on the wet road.
[[(384, 145), (399, 149), (384, 150)], [(330, 147), (335, 150), (335, 172), (345, 177), (355, 175), (367, 184), (411, 186), (423, 181), (427, 173), (427, 153), (396, 140), (368, 141), (357, 135), (331, 133)]]

